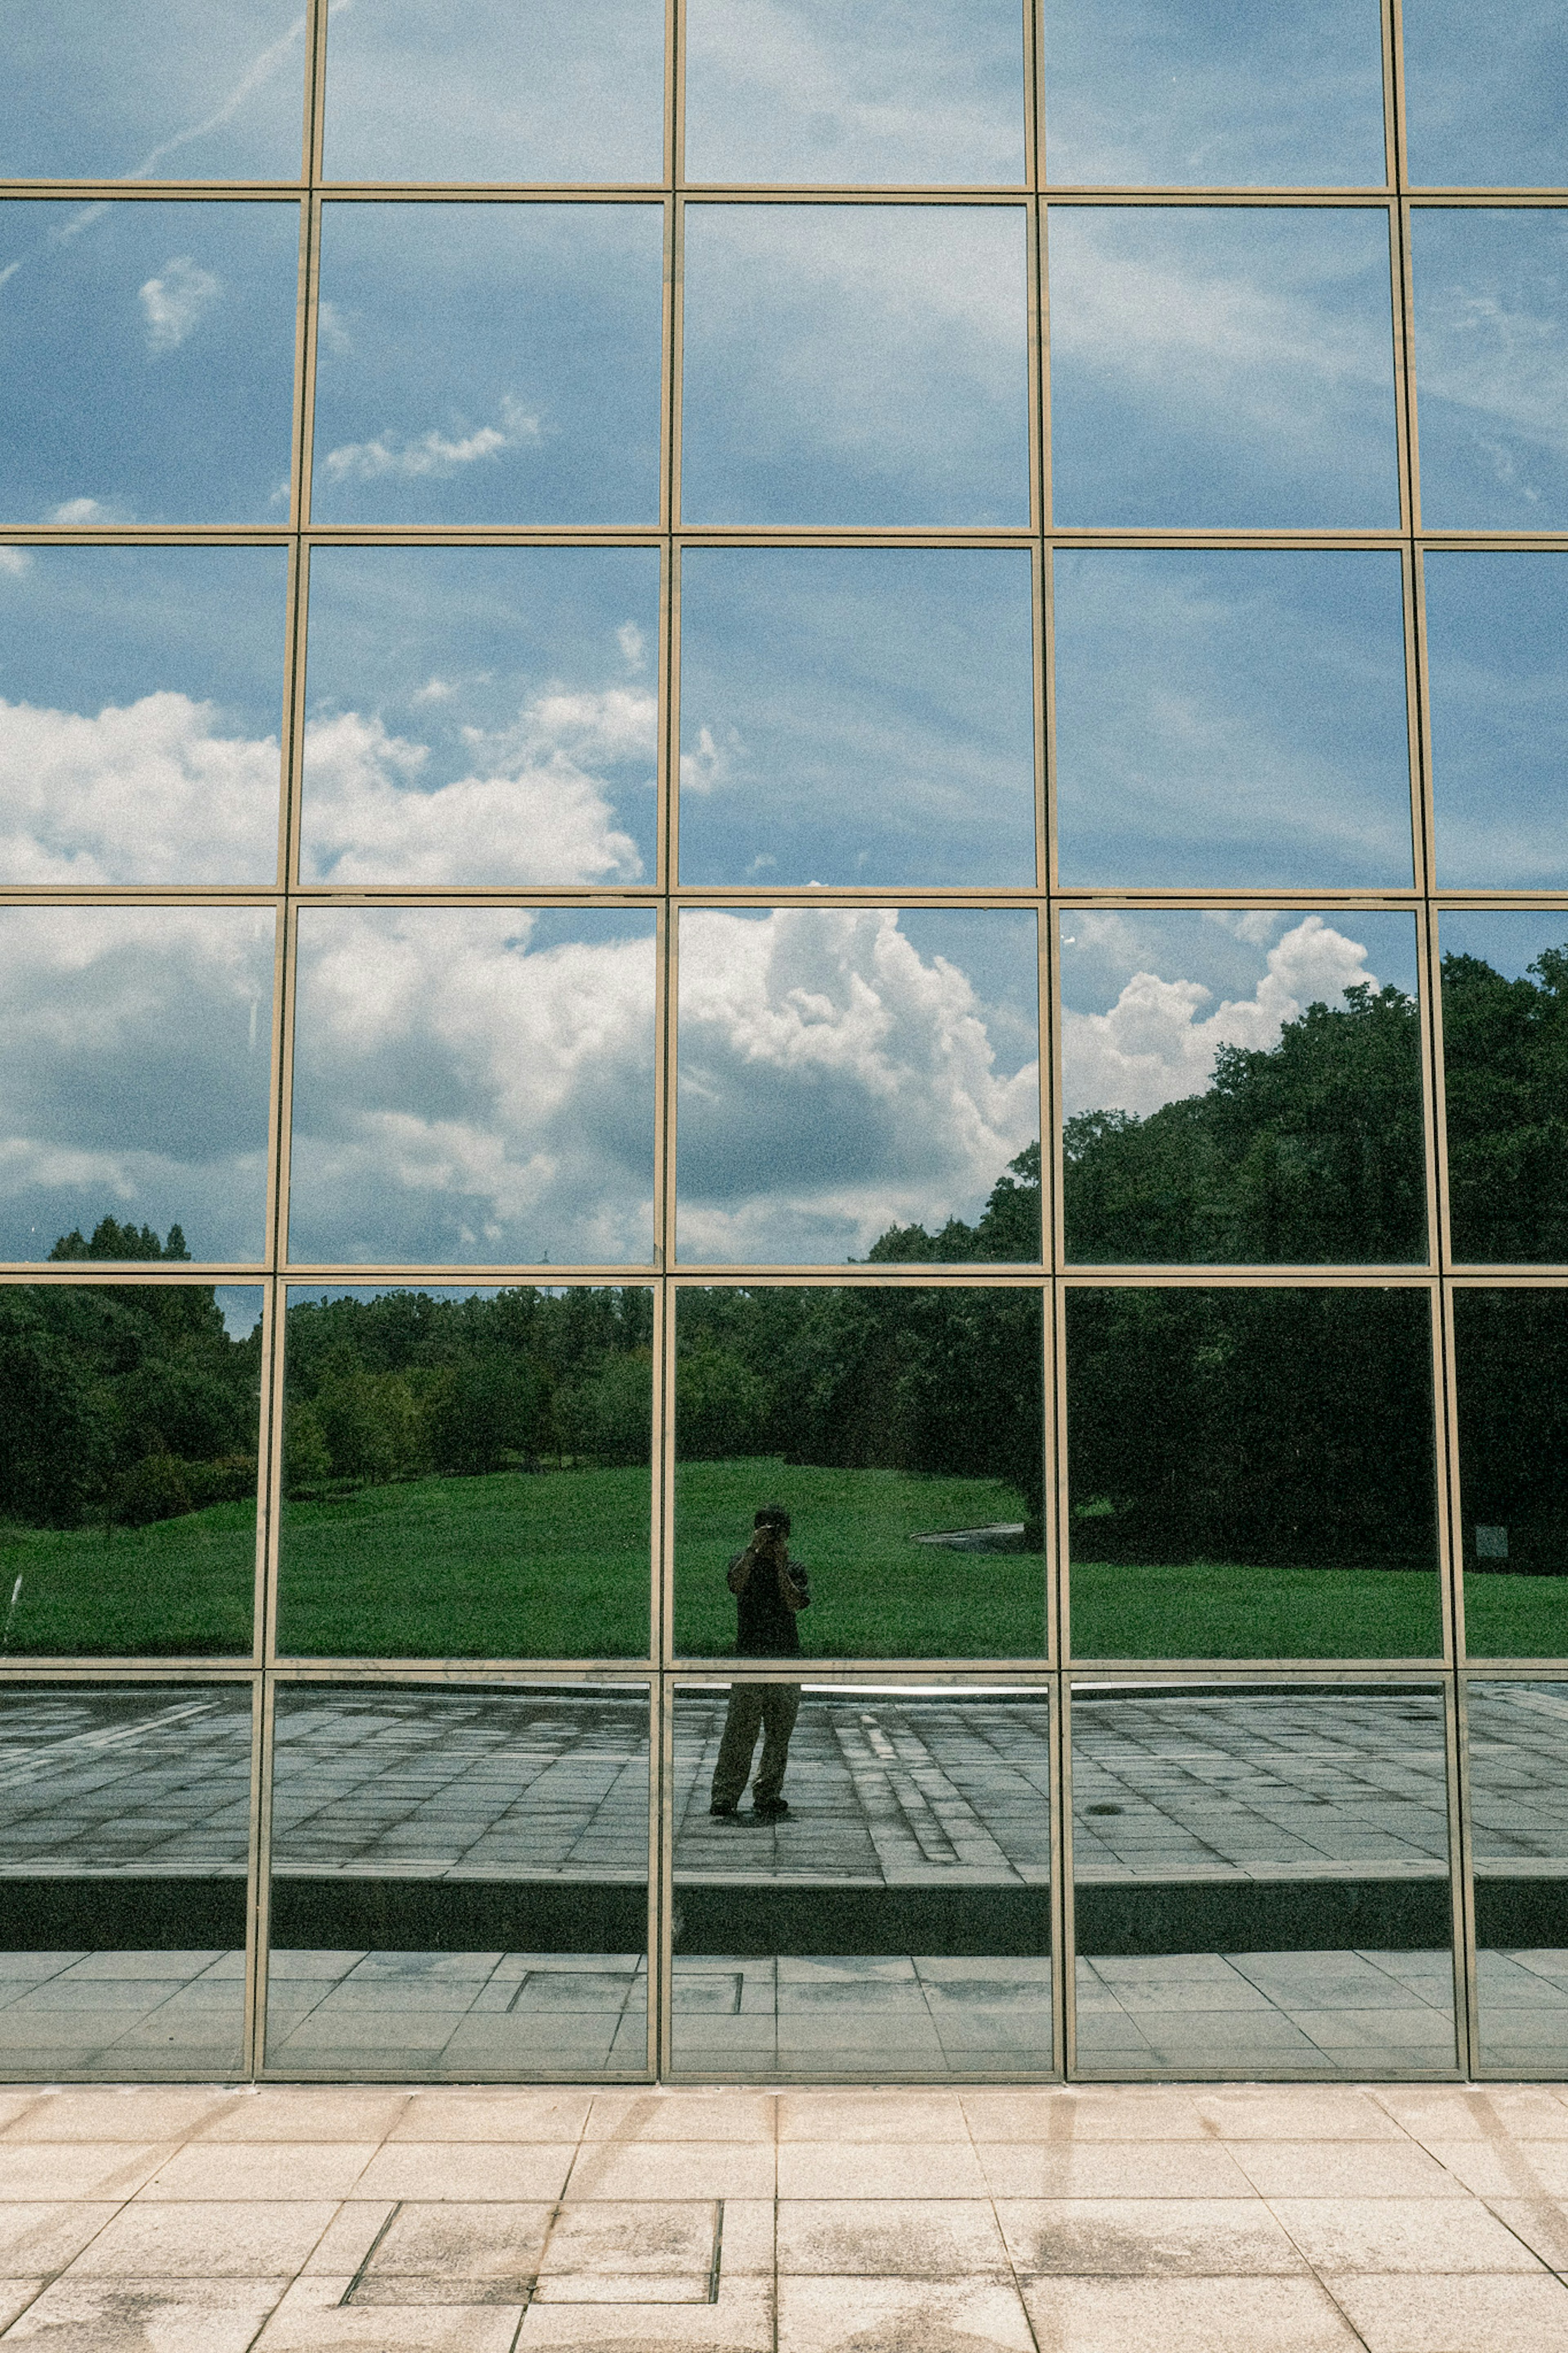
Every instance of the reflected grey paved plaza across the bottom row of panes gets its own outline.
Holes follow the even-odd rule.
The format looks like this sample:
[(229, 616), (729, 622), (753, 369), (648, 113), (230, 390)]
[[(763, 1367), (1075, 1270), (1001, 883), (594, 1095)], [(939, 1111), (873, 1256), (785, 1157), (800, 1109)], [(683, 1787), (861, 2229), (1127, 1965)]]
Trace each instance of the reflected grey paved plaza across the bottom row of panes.
[[(708, 1784), (722, 1689), (677, 1701), (675, 2061), (691, 2071), (1030, 2071), (1051, 2066), (1044, 1951), (726, 1951), (715, 1920), (766, 1904), (919, 1906), (969, 1915), (1048, 1885), (1051, 1748), (1039, 1694), (811, 1689), (788, 1821), (724, 1824)], [(1568, 1701), (1472, 1692), (1481, 1875), (1568, 1875)], [(277, 1882), (331, 1904), (357, 1887), (646, 1885), (646, 1706), (611, 1689), (296, 1687), (280, 1694)], [(249, 1694), (19, 1692), (0, 1737), (0, 1892), (16, 1904), (165, 1906), (244, 1885)], [(1079, 1922), (1095, 1889), (1439, 1882), (1441, 1704), (1420, 1692), (1093, 1692), (1074, 1701)], [(63, 1897), (61, 1897), (63, 1889)], [(757, 1913), (757, 1904), (764, 1911)], [(748, 1911), (750, 1906), (750, 1911)], [(61, 1918), (71, 1918), (63, 1913)], [(390, 1918), (390, 1915), (388, 1915)], [(788, 1913), (780, 1918), (790, 1918)], [(919, 1911), (886, 1918), (922, 1918)], [(12, 1929), (16, 1946), (33, 1937)], [(400, 1939), (388, 1937), (388, 1946)], [(635, 1939), (625, 1939), (632, 1944)], [(898, 1946), (898, 1939), (889, 1939)], [(1084, 1939), (1088, 1941), (1088, 1937)], [(242, 2064), (233, 1939), (66, 1937), (0, 1960), (0, 2064), (158, 2073)], [(745, 1939), (741, 1939), (745, 1946)], [(783, 1953), (783, 1958), (771, 1958)], [(270, 2064), (301, 2073), (571, 2073), (646, 2064), (635, 1951), (383, 1948), (294, 1939), (270, 1958)], [(1568, 1953), (1483, 1951), (1490, 2064), (1568, 2057)], [(1450, 1962), (1436, 1948), (1086, 1951), (1079, 2064), (1105, 2073), (1422, 2071), (1453, 2064)]]

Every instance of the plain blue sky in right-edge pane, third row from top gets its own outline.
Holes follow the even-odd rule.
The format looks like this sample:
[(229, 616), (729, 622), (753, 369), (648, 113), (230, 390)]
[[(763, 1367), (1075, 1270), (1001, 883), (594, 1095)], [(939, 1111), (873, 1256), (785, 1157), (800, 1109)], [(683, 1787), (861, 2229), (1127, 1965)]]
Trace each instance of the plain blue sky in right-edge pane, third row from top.
[(1568, 555), (1432, 548), (1427, 708), (1443, 889), (1568, 889)]

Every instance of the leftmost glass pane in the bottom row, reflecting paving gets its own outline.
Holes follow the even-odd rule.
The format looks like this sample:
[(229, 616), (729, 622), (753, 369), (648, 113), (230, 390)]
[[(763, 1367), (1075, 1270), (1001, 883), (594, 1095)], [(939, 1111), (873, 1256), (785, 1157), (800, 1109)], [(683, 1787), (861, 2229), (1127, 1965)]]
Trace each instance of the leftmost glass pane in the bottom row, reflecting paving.
[(12, 1682), (0, 1739), (5, 2073), (240, 2073), (249, 1685)]

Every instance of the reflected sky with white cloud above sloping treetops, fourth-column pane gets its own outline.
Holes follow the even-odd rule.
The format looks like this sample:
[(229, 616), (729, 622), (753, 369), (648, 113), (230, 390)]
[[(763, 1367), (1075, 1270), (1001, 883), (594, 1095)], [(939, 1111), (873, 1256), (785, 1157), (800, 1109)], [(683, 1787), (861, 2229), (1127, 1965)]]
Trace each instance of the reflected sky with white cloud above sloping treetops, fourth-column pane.
[(1361, 981), (1415, 995), (1413, 915), (1070, 908), (1060, 939), (1067, 1118), (1201, 1094), (1222, 1045), (1267, 1049)]

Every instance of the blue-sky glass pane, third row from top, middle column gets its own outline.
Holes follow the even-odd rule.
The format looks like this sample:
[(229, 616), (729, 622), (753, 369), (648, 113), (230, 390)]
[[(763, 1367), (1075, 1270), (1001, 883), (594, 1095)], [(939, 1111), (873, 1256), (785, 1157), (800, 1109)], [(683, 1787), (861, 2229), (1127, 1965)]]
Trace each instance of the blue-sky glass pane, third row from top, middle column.
[(684, 882), (1034, 887), (1011, 548), (682, 555)]

